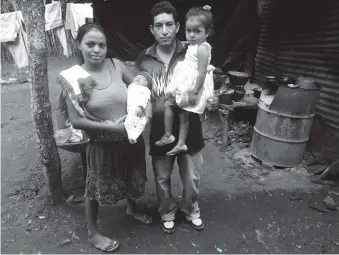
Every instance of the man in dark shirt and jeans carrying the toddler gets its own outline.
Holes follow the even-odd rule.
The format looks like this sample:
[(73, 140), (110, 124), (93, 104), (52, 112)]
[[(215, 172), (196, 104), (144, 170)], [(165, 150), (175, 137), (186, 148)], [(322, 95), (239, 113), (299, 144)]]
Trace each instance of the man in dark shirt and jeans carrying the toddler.
[(202, 136), (199, 115), (190, 113), (189, 131), (186, 139), (187, 153), (177, 156), (166, 156), (176, 144), (179, 131), (179, 118), (176, 114), (173, 125), (173, 144), (158, 147), (155, 142), (164, 134), (164, 89), (171, 73), (178, 63), (184, 59), (185, 43), (176, 39), (179, 31), (177, 11), (168, 1), (159, 2), (151, 10), (151, 33), (156, 43), (141, 52), (137, 61), (137, 70), (148, 72), (152, 76), (152, 119), (150, 131), (150, 155), (152, 156), (153, 171), (156, 181), (156, 191), (160, 202), (161, 227), (165, 233), (175, 231), (175, 214), (178, 205), (171, 193), (171, 174), (175, 159), (183, 182), (181, 211), (186, 214), (189, 224), (196, 230), (202, 230), (204, 224), (200, 218), (198, 206), (199, 182), (202, 165), (201, 150), (205, 144)]

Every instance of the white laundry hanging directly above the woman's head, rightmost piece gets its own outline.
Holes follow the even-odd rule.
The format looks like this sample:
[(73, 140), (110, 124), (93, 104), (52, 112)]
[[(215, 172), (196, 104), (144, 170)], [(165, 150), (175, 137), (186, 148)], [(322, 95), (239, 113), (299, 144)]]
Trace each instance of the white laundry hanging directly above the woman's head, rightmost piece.
[(86, 24), (86, 18), (93, 18), (91, 4), (67, 4), (65, 28), (71, 30), (74, 39), (78, 34), (79, 27)]

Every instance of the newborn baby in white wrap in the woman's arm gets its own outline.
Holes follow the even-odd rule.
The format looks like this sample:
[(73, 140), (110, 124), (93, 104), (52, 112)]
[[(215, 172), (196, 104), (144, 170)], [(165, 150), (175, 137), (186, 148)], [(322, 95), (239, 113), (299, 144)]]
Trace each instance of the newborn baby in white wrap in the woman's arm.
[(151, 99), (151, 76), (147, 72), (140, 72), (128, 86), (127, 117), (125, 128), (130, 143), (136, 143), (148, 122), (145, 110)]

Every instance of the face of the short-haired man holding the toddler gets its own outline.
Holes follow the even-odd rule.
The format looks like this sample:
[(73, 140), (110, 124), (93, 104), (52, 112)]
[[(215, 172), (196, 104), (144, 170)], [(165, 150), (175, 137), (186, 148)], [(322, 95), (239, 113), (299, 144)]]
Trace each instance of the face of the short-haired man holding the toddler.
[(175, 23), (172, 14), (161, 13), (153, 18), (150, 30), (161, 46), (168, 46), (174, 43), (179, 27), (179, 22)]

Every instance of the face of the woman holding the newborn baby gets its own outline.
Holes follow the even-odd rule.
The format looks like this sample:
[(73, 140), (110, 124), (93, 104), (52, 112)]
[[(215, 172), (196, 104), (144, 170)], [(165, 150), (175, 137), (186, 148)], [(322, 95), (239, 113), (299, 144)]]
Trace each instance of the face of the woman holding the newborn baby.
[(105, 35), (99, 30), (93, 29), (82, 38), (79, 49), (84, 61), (91, 64), (99, 64), (104, 61), (107, 53), (107, 42)]

